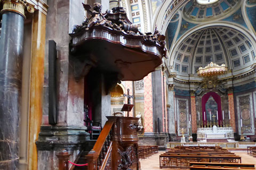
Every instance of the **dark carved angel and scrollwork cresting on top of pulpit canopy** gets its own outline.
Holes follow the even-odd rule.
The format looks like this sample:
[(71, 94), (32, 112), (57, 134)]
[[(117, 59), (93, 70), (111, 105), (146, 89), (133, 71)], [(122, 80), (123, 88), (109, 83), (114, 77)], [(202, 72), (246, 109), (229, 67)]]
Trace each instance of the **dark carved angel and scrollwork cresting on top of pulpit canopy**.
[(113, 8), (112, 11), (108, 10), (105, 14), (102, 14), (102, 6), (99, 3), (94, 3), (93, 7), (88, 4), (83, 4), (83, 6), (84, 10), (87, 11), (90, 16), (81, 25), (74, 25), (72, 29), (73, 33), (77, 33), (83, 29), (89, 30), (94, 25), (101, 25), (115, 31), (125, 32), (128, 35), (141, 36), (147, 43), (160, 46), (164, 52), (163, 56), (166, 57), (165, 36), (159, 33), (157, 27), (155, 27), (154, 33), (148, 32), (143, 34), (139, 31), (138, 25), (133, 25), (127, 20), (126, 13), (122, 7)]

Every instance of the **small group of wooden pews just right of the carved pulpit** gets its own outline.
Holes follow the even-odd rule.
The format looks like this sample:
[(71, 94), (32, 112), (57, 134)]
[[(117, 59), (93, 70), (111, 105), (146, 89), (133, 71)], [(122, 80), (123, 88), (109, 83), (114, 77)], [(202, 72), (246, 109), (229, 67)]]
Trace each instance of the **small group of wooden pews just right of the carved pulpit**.
[(158, 153), (158, 146), (139, 146), (138, 152), (140, 159), (146, 159)]

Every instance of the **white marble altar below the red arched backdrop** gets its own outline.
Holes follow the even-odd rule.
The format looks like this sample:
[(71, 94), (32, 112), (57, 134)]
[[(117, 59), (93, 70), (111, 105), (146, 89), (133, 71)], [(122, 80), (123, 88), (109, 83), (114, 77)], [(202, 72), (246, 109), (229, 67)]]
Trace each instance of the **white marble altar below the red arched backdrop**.
[(234, 139), (232, 127), (197, 128), (197, 139)]

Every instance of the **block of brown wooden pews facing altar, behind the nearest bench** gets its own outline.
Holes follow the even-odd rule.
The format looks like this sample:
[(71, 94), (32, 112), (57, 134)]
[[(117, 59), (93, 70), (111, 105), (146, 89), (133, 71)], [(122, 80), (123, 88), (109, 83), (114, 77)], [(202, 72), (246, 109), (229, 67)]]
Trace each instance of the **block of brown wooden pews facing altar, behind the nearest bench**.
[(241, 163), (236, 156), (221, 147), (178, 146), (159, 155), (160, 168), (189, 168), (190, 162)]

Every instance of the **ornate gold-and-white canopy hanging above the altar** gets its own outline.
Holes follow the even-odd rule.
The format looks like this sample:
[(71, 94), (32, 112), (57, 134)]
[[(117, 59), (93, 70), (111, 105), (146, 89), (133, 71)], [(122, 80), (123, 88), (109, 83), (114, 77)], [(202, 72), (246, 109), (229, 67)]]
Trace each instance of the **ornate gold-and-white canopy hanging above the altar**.
[(213, 77), (217, 75), (226, 74), (227, 71), (228, 71), (228, 67), (225, 64), (218, 65), (211, 62), (204, 68), (199, 67), (199, 69), (197, 70), (197, 75), (200, 77)]

